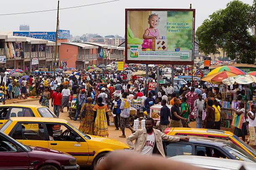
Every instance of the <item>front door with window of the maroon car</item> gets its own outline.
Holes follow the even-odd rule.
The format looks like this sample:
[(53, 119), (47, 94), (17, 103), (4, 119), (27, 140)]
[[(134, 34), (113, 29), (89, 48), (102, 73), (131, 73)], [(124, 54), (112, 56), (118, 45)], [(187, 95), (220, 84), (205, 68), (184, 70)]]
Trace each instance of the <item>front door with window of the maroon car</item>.
[(0, 136), (0, 169), (1, 170), (28, 170), (28, 153), (4, 136)]

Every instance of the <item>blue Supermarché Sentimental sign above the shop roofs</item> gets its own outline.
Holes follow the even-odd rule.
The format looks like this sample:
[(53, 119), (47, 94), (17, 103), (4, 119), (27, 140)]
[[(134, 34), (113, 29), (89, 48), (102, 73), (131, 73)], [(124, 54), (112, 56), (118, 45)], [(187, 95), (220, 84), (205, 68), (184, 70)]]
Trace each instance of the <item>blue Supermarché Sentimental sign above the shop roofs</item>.
[[(22, 36), (22, 37), (33, 37), (37, 39), (43, 40), (56, 40), (56, 32), (39, 32), (39, 31), (15, 31), (13, 32), (14, 36)], [(58, 39), (69, 39), (70, 31), (69, 30), (59, 30)]]

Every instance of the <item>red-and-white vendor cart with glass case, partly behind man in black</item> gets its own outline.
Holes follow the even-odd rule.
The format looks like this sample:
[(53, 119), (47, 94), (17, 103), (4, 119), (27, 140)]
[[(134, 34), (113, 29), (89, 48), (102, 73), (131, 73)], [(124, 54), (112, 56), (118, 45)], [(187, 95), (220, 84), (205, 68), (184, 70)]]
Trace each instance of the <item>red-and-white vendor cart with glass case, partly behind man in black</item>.
[[(172, 108), (172, 105), (166, 105), (167, 107), (169, 107), (170, 111)], [(154, 128), (158, 129), (162, 132), (162, 128), (160, 126), (160, 110), (163, 106), (162, 105), (154, 105), (150, 107), (150, 113), (149, 113), (149, 117), (152, 117), (154, 119)], [(169, 118), (169, 122), (170, 122), (170, 118)], [(169, 127), (169, 125), (168, 125)]]

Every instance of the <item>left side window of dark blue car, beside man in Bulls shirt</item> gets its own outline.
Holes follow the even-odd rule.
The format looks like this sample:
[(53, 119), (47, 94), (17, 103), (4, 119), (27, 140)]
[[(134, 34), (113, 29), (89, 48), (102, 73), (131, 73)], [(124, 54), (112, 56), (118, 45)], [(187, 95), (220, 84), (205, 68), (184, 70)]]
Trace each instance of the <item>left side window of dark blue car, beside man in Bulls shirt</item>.
[(177, 155), (193, 155), (193, 145), (190, 143), (165, 143), (166, 157)]

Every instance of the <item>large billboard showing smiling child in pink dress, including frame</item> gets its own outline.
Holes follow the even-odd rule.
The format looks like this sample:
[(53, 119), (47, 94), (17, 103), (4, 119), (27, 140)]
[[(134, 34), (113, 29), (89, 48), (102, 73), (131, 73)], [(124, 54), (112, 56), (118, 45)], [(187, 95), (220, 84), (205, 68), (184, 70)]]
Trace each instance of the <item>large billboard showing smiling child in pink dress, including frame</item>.
[(195, 9), (125, 9), (125, 62), (194, 64)]

